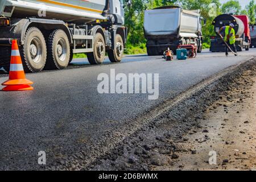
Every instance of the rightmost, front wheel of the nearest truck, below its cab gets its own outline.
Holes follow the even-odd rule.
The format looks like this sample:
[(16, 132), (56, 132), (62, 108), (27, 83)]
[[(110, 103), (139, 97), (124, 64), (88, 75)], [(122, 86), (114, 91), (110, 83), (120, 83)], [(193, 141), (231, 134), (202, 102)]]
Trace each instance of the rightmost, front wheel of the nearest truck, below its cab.
[(123, 39), (121, 35), (115, 36), (115, 49), (108, 51), (109, 60), (113, 63), (120, 62), (123, 57)]

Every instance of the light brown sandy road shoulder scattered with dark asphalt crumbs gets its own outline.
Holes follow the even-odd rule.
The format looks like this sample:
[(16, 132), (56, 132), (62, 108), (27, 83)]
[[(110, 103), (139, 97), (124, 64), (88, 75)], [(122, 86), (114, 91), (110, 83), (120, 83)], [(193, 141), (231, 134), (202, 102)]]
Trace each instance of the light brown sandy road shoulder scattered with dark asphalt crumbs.
[[(256, 169), (256, 75), (243, 75), (208, 107), (200, 129), (184, 135), (177, 143), (172, 165), (155, 170), (255, 170)], [(216, 154), (216, 164), (212, 156)], [(209, 159), (210, 163), (209, 164)]]

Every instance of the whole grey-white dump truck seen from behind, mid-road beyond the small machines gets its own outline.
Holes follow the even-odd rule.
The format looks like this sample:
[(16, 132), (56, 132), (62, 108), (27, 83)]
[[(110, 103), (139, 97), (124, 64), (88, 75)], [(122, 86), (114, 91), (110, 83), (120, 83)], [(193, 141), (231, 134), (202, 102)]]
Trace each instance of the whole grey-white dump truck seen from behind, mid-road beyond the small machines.
[(176, 52), (180, 44), (195, 44), (197, 51), (201, 52), (202, 20), (200, 10), (188, 11), (179, 6), (162, 6), (144, 11), (147, 54), (162, 55), (168, 47)]

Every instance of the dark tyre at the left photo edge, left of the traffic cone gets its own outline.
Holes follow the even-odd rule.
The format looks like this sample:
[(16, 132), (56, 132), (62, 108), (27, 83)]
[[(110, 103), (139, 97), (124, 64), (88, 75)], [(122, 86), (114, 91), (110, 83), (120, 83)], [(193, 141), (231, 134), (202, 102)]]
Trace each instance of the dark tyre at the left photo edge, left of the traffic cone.
[(1, 46), (0, 47), (0, 68), (5, 69), (5, 71), (10, 71), (10, 61), (11, 61), (11, 47)]

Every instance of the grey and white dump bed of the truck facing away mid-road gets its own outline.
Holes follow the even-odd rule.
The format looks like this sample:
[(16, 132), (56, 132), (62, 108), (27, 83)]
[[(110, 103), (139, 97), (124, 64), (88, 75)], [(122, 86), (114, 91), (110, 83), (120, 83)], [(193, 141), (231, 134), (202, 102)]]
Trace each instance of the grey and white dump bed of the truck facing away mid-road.
[(174, 35), (196, 36), (200, 14), (181, 8), (146, 10), (144, 30), (146, 36)]

